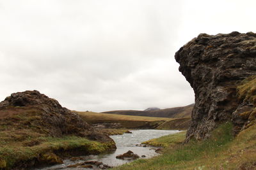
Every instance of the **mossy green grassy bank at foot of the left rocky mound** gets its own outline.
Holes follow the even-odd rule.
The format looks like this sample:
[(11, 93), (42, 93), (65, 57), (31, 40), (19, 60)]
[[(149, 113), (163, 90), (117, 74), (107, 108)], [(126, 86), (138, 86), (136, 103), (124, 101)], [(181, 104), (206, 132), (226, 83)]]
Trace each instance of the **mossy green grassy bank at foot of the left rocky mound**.
[[(34, 145), (34, 146), (29, 146)], [(36, 145), (35, 145), (36, 144)], [(5, 167), (34, 166), (34, 164), (61, 163), (63, 156), (72, 154), (97, 154), (106, 152), (113, 143), (99, 143), (86, 138), (65, 136), (63, 138), (38, 138), (21, 143), (3, 143), (0, 148), (0, 169)], [(60, 157), (59, 157), (60, 156)]]

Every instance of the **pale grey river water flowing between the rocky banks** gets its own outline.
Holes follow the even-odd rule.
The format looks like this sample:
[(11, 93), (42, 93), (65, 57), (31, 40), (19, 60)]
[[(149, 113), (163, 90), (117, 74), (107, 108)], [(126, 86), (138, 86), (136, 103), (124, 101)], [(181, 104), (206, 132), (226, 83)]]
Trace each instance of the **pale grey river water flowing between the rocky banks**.
[[(116, 143), (116, 150), (113, 153), (102, 154), (102, 155), (87, 155), (83, 156), (82, 160), (72, 161), (70, 159), (63, 160), (63, 164), (54, 165), (51, 167), (40, 168), (40, 170), (53, 170), (53, 169), (86, 169), (86, 168), (66, 168), (69, 165), (77, 164), (79, 162), (84, 162), (84, 160), (97, 160), (108, 166), (120, 166), (126, 162), (131, 162), (132, 160), (121, 160), (116, 159), (117, 155), (123, 154), (128, 150), (138, 154), (140, 157), (145, 155), (145, 159), (154, 157), (158, 155), (155, 150), (159, 147), (147, 146), (143, 147), (141, 142), (147, 141), (149, 139), (159, 138), (164, 135), (174, 134), (179, 131), (165, 131), (165, 130), (153, 130), (153, 129), (143, 129), (131, 131), (131, 134), (122, 134), (110, 136)], [(137, 145), (137, 146), (136, 146)], [(39, 169), (36, 169), (39, 170)]]

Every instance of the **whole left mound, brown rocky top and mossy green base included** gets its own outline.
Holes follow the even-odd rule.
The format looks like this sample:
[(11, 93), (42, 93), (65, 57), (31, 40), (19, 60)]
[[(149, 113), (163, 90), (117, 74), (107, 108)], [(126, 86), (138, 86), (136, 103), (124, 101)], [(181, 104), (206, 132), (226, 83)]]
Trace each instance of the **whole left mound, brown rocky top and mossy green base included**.
[(0, 103), (0, 169), (60, 164), (63, 156), (115, 148), (108, 135), (36, 90), (14, 93)]

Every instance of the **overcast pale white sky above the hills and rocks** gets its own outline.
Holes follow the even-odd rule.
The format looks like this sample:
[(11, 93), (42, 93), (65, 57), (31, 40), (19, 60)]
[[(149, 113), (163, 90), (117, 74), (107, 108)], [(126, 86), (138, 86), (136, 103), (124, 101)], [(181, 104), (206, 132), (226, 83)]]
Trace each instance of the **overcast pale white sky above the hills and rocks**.
[(255, 0), (0, 0), (0, 101), (38, 90), (70, 110), (194, 103), (174, 55), (200, 33), (256, 30)]

